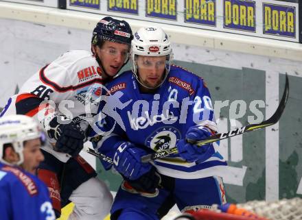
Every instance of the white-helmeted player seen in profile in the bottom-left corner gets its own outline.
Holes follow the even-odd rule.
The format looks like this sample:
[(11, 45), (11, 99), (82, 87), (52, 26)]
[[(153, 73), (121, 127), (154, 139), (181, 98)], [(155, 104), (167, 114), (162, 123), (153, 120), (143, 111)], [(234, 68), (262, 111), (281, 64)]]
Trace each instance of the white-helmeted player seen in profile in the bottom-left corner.
[(47, 187), (35, 175), (44, 160), (40, 131), (38, 124), (24, 115), (0, 119), (1, 220), (56, 219)]

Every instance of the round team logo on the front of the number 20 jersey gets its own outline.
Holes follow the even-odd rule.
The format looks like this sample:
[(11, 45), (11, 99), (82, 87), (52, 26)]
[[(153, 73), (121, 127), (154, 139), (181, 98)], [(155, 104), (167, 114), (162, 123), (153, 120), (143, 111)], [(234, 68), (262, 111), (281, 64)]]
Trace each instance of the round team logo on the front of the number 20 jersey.
[(146, 146), (149, 146), (154, 151), (170, 149), (175, 147), (180, 136), (180, 132), (174, 127), (162, 127), (147, 138)]

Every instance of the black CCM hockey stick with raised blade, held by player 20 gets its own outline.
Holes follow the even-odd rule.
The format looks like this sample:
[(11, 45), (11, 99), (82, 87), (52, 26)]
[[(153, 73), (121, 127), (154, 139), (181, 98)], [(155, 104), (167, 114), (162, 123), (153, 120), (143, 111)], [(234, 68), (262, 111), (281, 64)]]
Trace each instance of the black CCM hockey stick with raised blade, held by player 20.
[[(240, 128), (234, 129), (234, 130), (230, 130), (229, 132), (216, 134), (216, 135), (210, 136), (209, 138), (206, 138), (204, 140), (196, 141), (196, 140), (188, 139), (187, 142), (200, 147), (200, 146), (206, 145), (208, 143), (213, 143), (213, 142), (216, 142), (218, 140), (223, 140), (225, 138), (230, 138), (232, 136), (237, 136), (237, 135), (240, 135), (240, 134), (244, 134), (246, 132), (251, 132), (251, 131), (254, 131), (254, 130), (258, 130), (260, 128), (268, 127), (270, 125), (273, 125), (273, 124), (277, 123), (277, 121), (279, 121), (279, 119), (281, 117), (281, 114), (282, 114), (284, 108), (286, 107), (286, 102), (288, 101), (289, 89), (290, 88), (289, 88), (289, 84), (288, 84), (288, 75), (286, 74), (286, 86), (284, 88), (282, 99), (279, 103), (279, 106), (278, 106), (276, 112), (272, 115), (272, 117), (270, 117), (266, 121), (262, 121), (262, 123), (258, 123), (258, 124), (246, 125), (244, 127), (240, 127)], [(173, 147), (171, 149), (166, 149), (164, 151), (159, 151), (159, 152), (156, 152), (154, 154), (148, 154), (146, 156), (142, 156), (141, 157), (141, 162), (149, 162), (151, 160), (156, 160), (156, 159), (159, 159), (159, 158), (165, 158), (166, 156), (169, 156), (170, 154), (177, 154), (177, 148)]]

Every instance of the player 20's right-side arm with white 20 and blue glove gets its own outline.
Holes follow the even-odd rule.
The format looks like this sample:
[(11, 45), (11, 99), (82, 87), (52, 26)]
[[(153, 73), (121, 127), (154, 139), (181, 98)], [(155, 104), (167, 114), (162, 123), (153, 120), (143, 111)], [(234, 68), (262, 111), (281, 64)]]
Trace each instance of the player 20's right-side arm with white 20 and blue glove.
[(197, 147), (187, 143), (186, 139), (202, 140), (216, 134), (217, 125), (209, 90), (202, 79), (196, 86), (196, 93), (189, 98), (185, 137), (178, 141), (178, 154), (189, 162), (204, 162), (215, 153), (212, 143)]

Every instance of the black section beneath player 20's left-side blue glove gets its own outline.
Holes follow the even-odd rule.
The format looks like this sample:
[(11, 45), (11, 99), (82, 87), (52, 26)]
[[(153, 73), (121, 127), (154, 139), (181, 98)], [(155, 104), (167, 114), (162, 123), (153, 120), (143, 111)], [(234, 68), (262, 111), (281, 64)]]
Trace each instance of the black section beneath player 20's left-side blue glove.
[(127, 178), (124, 180), (139, 193), (150, 195), (154, 195), (161, 184), (161, 176), (156, 172), (155, 167), (152, 167), (150, 171), (141, 175), (137, 180), (128, 180)]

